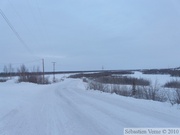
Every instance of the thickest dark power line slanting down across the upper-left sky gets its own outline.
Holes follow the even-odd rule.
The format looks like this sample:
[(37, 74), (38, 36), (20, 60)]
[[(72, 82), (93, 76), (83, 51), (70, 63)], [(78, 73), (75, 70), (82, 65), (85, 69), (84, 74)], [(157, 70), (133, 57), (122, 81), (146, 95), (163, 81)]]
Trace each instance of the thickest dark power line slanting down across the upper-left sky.
[(19, 39), (19, 41), (22, 43), (22, 45), (30, 52), (32, 53), (32, 51), (30, 50), (30, 48), (27, 46), (27, 44), (24, 42), (24, 40), (21, 38), (21, 36), (19, 35), (19, 33), (16, 31), (16, 29), (13, 27), (13, 25), (10, 23), (9, 19), (7, 18), (7, 16), (4, 14), (4, 12), (0, 9), (0, 14), (2, 15), (2, 17), (4, 18), (4, 20), (6, 21), (6, 23), (8, 24), (8, 26), (10, 27), (10, 29), (13, 31), (13, 33), (15, 34), (15, 36)]

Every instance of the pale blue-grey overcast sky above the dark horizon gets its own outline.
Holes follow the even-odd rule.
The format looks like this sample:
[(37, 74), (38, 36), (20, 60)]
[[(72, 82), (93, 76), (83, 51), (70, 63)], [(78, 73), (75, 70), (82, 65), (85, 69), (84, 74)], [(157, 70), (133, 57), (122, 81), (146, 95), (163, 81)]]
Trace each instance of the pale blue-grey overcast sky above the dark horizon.
[(180, 66), (179, 0), (1, 0), (0, 70), (95, 70)]

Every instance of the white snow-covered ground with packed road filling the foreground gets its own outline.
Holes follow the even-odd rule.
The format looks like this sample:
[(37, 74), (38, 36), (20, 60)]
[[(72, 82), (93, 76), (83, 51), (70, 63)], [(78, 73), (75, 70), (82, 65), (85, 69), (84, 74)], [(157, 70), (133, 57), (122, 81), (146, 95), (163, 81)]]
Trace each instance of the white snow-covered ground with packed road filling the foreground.
[(0, 135), (123, 135), (124, 128), (180, 127), (179, 114), (169, 103), (86, 90), (79, 79), (0, 83)]

